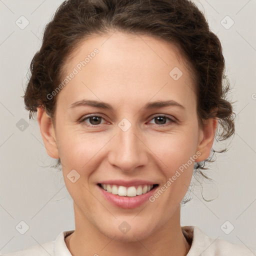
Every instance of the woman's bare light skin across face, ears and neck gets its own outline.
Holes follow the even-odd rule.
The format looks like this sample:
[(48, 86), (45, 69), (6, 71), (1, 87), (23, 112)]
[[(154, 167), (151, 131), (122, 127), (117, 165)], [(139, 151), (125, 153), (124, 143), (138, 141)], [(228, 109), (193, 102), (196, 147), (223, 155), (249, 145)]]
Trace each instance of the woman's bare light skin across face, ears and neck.
[[(217, 120), (198, 124), (195, 85), (173, 45), (121, 32), (94, 36), (82, 41), (68, 58), (64, 74), (94, 48), (99, 53), (58, 92), (55, 126), (44, 109), (37, 108), (46, 151), (53, 158), (60, 157), (73, 199), (75, 231), (65, 238), (67, 248), (72, 255), (186, 255), (190, 244), (181, 231), (180, 201), (193, 164), (154, 202), (133, 209), (106, 201), (96, 184), (99, 180), (145, 179), (161, 187), (196, 152), (200, 156), (195, 161), (209, 156)], [(183, 73), (176, 81), (169, 75), (174, 67)], [(70, 108), (85, 98), (107, 102), (113, 111)], [(184, 109), (143, 108), (156, 100), (174, 100)], [(89, 118), (78, 123), (88, 114), (102, 116), (100, 124), (89, 127), (94, 124)], [(176, 122), (154, 118), (162, 114)], [(126, 131), (118, 126), (123, 118), (131, 123)], [(74, 183), (67, 178), (72, 169), (80, 174)], [(118, 228), (123, 221), (131, 227), (127, 233)]]

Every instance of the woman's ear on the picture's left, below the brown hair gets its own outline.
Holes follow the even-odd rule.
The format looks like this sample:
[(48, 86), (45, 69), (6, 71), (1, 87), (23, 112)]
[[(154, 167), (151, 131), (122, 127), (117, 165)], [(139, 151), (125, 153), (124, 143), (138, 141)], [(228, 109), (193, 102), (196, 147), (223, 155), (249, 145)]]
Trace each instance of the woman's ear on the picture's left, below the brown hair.
[(47, 154), (52, 158), (59, 158), (53, 123), (42, 106), (37, 107), (37, 122)]

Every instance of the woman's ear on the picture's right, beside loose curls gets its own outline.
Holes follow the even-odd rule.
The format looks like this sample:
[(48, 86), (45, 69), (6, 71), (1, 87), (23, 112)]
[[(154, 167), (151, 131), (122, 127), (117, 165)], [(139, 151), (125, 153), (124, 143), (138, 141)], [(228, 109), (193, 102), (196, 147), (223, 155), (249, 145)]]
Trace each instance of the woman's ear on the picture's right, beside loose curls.
[(197, 157), (196, 162), (203, 161), (209, 157), (215, 137), (217, 122), (217, 119), (210, 118), (204, 120), (204, 124), (199, 128), (197, 151), (201, 154)]

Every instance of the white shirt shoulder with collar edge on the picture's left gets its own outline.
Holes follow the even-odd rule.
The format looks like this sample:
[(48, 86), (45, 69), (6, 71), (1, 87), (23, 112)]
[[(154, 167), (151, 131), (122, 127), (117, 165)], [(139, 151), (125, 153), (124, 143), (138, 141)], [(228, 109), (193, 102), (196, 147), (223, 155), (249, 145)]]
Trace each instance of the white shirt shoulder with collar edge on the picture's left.
[(64, 238), (73, 231), (74, 229), (61, 231), (53, 241), (33, 245), (19, 251), (0, 254), (0, 256), (71, 256)]

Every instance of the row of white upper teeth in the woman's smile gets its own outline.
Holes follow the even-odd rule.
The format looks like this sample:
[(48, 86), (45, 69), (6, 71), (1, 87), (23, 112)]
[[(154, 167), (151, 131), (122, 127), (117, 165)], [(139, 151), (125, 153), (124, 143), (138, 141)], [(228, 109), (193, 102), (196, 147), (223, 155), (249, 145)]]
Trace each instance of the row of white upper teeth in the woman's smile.
[(112, 194), (118, 194), (120, 196), (136, 196), (144, 194), (152, 189), (153, 185), (139, 185), (137, 188), (135, 186), (118, 186), (110, 184), (100, 184), (103, 189)]

